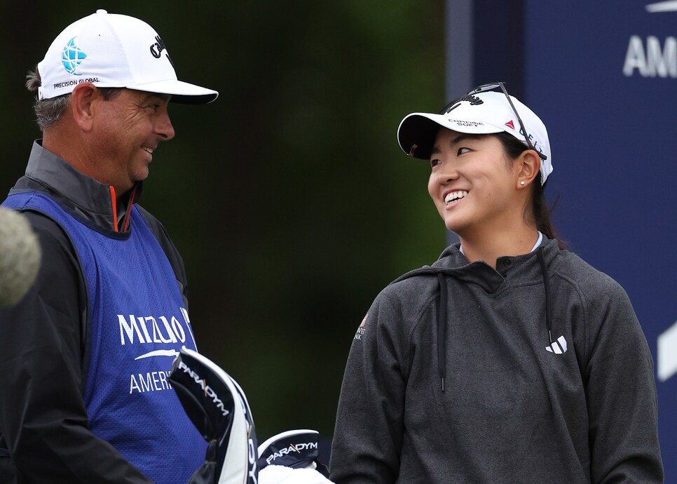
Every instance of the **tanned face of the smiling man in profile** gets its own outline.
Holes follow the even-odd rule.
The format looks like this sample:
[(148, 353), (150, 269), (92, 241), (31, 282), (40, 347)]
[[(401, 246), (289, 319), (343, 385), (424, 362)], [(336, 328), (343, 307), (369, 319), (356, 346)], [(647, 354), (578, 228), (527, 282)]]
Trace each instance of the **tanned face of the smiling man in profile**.
[(97, 180), (113, 185), (118, 195), (148, 176), (154, 150), (174, 137), (169, 100), (170, 95), (121, 89), (97, 103), (92, 161), (100, 170)]

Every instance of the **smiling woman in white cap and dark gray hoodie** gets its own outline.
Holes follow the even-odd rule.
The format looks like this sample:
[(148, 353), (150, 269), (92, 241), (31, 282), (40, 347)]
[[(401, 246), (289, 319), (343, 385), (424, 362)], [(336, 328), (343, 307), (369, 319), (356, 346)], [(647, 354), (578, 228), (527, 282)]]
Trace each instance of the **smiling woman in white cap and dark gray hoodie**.
[(620, 285), (556, 240), (540, 118), (498, 83), (409, 114), (398, 137), (430, 160), (428, 192), (460, 242), (360, 324), (332, 480), (662, 482), (645, 337)]

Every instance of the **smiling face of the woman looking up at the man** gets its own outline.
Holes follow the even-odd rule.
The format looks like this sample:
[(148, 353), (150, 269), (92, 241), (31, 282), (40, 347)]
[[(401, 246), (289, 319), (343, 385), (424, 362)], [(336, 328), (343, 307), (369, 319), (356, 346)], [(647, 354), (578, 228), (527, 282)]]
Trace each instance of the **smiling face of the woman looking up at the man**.
[(428, 193), (458, 236), (503, 229), (512, 220), (517, 173), (497, 137), (439, 128), (430, 166)]

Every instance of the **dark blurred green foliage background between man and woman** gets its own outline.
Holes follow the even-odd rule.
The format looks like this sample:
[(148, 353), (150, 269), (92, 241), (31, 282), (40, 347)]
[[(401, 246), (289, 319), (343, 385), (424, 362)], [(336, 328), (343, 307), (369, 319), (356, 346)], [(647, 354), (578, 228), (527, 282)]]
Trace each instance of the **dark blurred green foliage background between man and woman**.
[(40, 136), (27, 70), (97, 8), (149, 22), (179, 79), (220, 93), (172, 105), (142, 200), (184, 257), (198, 349), (245, 389), (260, 437), (331, 437), (371, 300), (444, 248), (428, 166), (395, 136), (444, 105), (444, 2), (5, 2), (1, 191)]

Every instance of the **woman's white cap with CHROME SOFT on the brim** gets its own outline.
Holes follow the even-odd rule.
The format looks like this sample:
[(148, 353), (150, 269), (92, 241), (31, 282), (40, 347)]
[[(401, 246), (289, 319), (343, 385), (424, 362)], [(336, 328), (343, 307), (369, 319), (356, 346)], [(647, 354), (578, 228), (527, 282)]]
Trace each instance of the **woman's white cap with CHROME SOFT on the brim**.
[[(545, 124), (531, 109), (510, 96), (519, 113), (533, 148), (547, 156), (540, 161), (541, 182), (545, 183), (552, 173), (552, 155)], [(489, 134), (509, 133), (526, 145), (526, 138), (519, 126), (517, 116), (504, 93), (488, 91), (465, 95), (449, 103), (442, 114), (412, 113), (404, 117), (397, 128), (399, 147), (409, 156), (430, 159), (439, 127), (458, 133)]]

